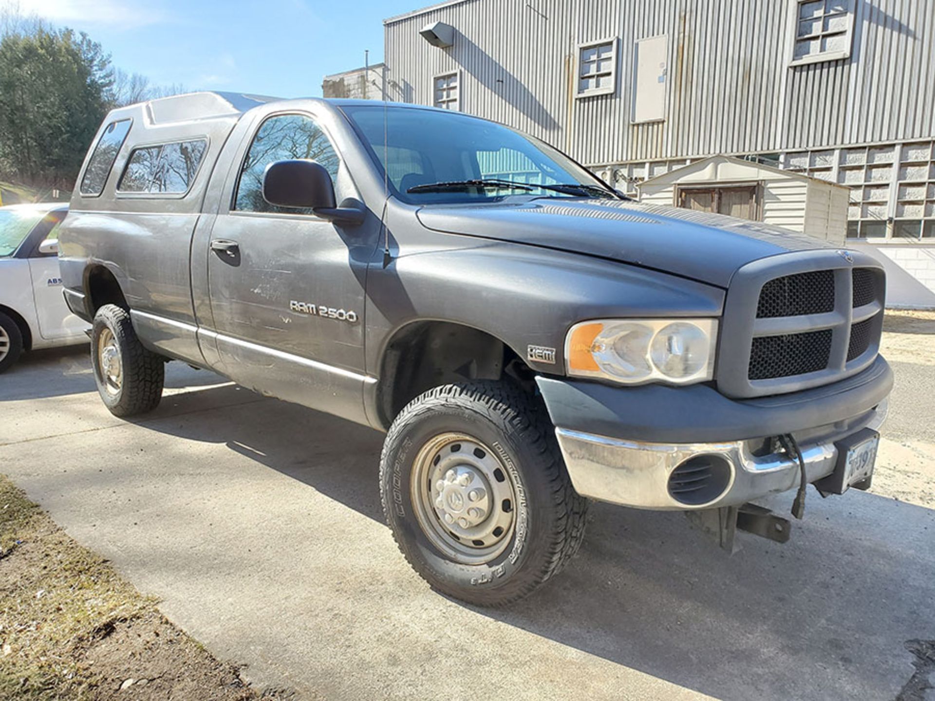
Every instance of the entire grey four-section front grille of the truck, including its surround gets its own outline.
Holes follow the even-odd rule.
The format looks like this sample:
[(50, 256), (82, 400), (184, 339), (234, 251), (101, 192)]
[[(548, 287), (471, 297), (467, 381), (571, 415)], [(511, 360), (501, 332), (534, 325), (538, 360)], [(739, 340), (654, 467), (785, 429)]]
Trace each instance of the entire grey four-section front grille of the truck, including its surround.
[(866, 253), (813, 250), (742, 266), (730, 280), (717, 389), (746, 399), (837, 382), (876, 358), (885, 274)]

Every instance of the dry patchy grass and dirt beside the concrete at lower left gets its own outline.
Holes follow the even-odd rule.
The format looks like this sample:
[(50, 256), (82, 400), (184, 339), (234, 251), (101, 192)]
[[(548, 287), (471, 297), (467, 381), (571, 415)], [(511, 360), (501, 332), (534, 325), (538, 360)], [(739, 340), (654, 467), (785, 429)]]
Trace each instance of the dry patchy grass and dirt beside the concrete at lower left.
[(261, 697), (0, 476), (0, 698)]

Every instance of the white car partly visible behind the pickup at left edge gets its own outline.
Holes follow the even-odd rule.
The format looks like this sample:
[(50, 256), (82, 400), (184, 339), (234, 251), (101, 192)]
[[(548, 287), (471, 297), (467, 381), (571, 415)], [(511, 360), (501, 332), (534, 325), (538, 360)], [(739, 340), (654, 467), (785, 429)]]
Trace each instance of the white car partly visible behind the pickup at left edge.
[(0, 207), (0, 373), (23, 350), (88, 340), (62, 296), (56, 234), (67, 212), (62, 203)]

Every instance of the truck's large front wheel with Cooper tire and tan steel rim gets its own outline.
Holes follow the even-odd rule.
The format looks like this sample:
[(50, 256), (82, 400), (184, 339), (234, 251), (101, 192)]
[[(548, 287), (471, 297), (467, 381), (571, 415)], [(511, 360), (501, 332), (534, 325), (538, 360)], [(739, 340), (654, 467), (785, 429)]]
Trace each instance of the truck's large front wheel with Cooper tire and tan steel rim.
[(381, 456), (387, 522), (439, 592), (505, 606), (561, 570), (584, 535), (554, 428), (507, 382), (435, 388), (390, 427)]

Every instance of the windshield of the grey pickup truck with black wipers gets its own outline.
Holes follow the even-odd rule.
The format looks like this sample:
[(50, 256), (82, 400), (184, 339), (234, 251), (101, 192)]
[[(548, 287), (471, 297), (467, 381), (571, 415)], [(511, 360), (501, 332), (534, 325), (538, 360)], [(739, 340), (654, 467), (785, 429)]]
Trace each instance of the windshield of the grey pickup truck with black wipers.
[(393, 192), (410, 204), (496, 201), (511, 194), (614, 196), (568, 156), (502, 124), (379, 103), (344, 112), (386, 169)]

